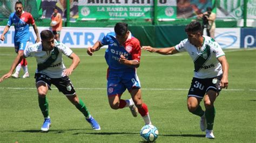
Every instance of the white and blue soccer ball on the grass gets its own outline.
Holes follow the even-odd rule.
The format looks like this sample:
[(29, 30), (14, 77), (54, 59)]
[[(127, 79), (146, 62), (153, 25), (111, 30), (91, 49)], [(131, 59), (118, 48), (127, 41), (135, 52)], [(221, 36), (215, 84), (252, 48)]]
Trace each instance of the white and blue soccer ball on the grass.
[(139, 134), (143, 141), (156, 141), (158, 137), (158, 130), (157, 127), (153, 125), (145, 125), (142, 127)]

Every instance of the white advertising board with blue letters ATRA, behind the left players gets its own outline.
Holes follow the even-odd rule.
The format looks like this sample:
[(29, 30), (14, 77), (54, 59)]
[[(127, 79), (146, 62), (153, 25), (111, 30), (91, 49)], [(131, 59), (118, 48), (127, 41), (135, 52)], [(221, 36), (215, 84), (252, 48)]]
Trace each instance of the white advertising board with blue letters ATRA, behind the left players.
[[(0, 26), (3, 33), (5, 26)], [(49, 27), (38, 27), (39, 32), (49, 29)], [(60, 33), (60, 41), (71, 48), (85, 48), (93, 46), (93, 44), (102, 39), (107, 33), (113, 32), (113, 28), (83, 28), (83, 27), (63, 27)], [(36, 41), (36, 34), (30, 27), (30, 44)], [(14, 47), (14, 26), (10, 27), (8, 33), (5, 34), (5, 40), (0, 41), (1, 47)]]

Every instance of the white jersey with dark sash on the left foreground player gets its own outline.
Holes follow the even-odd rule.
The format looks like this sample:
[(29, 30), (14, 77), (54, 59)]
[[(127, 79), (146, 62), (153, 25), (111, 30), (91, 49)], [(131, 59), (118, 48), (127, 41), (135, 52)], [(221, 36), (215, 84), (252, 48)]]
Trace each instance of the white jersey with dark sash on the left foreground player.
[(64, 69), (66, 69), (62, 59), (62, 53), (66, 56), (70, 56), (73, 52), (69, 47), (64, 45), (62, 42), (57, 42), (56, 40), (54, 42), (55, 48), (52, 49), (52, 51), (43, 51), (42, 42), (38, 42), (25, 48), (24, 56), (34, 56), (36, 58), (38, 65), (45, 63), (46, 61), (50, 62), (50, 66), (46, 69), (39, 71), (37, 67), (36, 73), (45, 74), (51, 78), (60, 78), (64, 76), (63, 71)]

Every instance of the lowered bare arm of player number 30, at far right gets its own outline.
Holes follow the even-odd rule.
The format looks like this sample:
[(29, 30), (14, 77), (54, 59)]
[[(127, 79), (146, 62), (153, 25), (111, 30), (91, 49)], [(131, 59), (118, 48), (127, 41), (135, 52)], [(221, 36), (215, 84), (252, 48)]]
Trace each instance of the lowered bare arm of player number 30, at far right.
[(223, 70), (223, 77), (221, 78), (221, 81), (220, 81), (220, 87), (223, 87), (223, 88), (227, 88), (228, 86), (228, 63), (227, 63), (227, 59), (226, 59), (226, 56), (220, 56), (218, 58), (219, 62), (221, 63), (221, 67), (222, 67), (222, 70)]

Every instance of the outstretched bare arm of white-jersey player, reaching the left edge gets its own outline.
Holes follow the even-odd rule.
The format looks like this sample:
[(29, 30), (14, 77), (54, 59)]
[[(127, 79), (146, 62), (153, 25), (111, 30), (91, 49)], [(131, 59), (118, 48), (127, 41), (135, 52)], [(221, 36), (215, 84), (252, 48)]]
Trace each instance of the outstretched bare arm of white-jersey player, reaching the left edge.
[(23, 51), (19, 51), (19, 52), (18, 52), (18, 55), (16, 56), (14, 62), (13, 62), (12, 65), (11, 65), (11, 69), (9, 70), (8, 73), (6, 73), (5, 75), (3, 75), (3, 76), (0, 78), (0, 82), (3, 82), (3, 80), (5, 80), (6, 78), (11, 77), (11, 74), (14, 72), (15, 68), (16, 68), (17, 65), (22, 61), (23, 58), (25, 58), (25, 57), (24, 57), (24, 54), (23, 54)]

